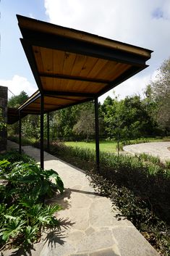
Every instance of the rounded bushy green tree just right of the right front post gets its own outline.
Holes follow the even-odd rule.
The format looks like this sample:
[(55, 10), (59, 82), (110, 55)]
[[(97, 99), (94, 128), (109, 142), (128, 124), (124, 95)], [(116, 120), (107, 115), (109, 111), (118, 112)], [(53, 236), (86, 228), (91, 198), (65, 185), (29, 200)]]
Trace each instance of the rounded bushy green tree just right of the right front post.
[(115, 139), (136, 139), (154, 134), (156, 123), (150, 116), (150, 108), (140, 96), (117, 98), (103, 103), (103, 119), (107, 136)]

